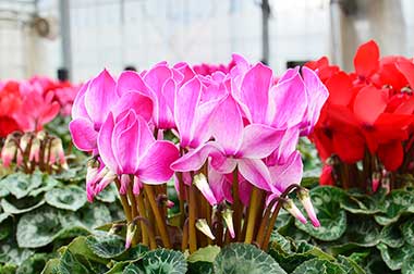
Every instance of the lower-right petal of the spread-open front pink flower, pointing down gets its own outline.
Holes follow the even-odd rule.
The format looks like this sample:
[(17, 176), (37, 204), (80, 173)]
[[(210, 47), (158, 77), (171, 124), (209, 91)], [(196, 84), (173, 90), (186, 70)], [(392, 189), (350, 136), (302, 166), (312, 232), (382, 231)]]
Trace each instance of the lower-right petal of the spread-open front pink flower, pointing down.
[(252, 185), (264, 190), (270, 190), (270, 173), (261, 160), (240, 159), (238, 166), (243, 177)]

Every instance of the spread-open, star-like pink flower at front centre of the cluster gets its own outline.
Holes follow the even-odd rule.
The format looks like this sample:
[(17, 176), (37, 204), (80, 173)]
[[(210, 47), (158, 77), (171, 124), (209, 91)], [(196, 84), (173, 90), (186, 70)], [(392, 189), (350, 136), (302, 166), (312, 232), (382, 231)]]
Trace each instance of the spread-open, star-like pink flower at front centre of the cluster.
[(270, 190), (270, 174), (261, 159), (278, 146), (282, 132), (261, 124), (244, 127), (240, 107), (231, 95), (219, 104), (211, 127), (216, 140), (192, 150), (171, 167), (179, 172), (196, 171), (210, 157), (210, 165), (217, 172), (228, 174), (239, 166), (251, 184)]

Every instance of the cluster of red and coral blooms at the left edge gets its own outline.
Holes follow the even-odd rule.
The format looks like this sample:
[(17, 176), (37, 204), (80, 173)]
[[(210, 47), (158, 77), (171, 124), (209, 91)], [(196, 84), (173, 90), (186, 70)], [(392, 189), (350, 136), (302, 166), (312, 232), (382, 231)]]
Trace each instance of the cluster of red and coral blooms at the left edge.
[(77, 87), (46, 77), (0, 82), (0, 139), (15, 130), (38, 132), (59, 112), (69, 115)]

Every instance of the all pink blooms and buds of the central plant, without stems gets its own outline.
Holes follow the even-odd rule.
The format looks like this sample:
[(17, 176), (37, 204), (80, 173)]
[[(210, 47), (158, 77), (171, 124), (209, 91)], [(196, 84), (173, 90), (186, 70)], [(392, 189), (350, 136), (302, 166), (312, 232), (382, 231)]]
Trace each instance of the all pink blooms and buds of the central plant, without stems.
[[(70, 124), (75, 146), (96, 159), (87, 172), (88, 200), (113, 180), (121, 195), (129, 188), (139, 195), (145, 185), (174, 176), (179, 192), (194, 185), (212, 207), (231, 204), (235, 196), (248, 207), (255, 188), (269, 204), (300, 184), (303, 163), (296, 145), (317, 122), (326, 87), (307, 67), (277, 78), (261, 63), (252, 65), (236, 54), (233, 62), (229, 72), (206, 76), (187, 63), (161, 62), (117, 79), (105, 70), (88, 80)], [(179, 144), (166, 140), (167, 133)], [(234, 175), (239, 194), (232, 190)], [(302, 197), (319, 226), (308, 195)], [(306, 223), (293, 202), (287, 204)]]

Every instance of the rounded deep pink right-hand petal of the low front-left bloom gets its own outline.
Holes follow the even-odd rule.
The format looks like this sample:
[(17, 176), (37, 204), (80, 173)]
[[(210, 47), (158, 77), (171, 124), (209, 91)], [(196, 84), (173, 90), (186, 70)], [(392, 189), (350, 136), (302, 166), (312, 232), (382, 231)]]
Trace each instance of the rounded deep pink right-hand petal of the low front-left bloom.
[(136, 176), (145, 184), (163, 184), (169, 180), (173, 171), (170, 169), (180, 157), (179, 149), (170, 141), (155, 141), (145, 157), (139, 160)]

